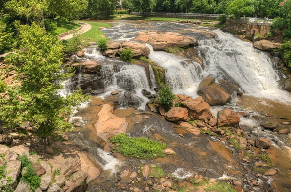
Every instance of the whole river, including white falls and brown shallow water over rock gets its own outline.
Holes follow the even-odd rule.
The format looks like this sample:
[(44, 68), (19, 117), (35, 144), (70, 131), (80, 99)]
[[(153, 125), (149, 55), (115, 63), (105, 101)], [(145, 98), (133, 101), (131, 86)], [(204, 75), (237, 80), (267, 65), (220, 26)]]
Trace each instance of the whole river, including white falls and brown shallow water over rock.
[[(154, 51), (150, 45), (146, 44), (151, 50), (148, 58), (166, 69), (166, 84), (172, 87), (175, 94), (197, 97), (197, 87), (206, 76), (214, 77), (216, 80), (227, 79), (239, 85), (243, 92), (242, 97), (234, 96), (231, 103), (226, 104), (226, 106), (211, 107), (211, 110), (215, 114), (220, 109), (227, 107), (250, 114), (249, 117), (241, 117), (242, 127), (255, 138), (259, 136), (271, 138), (272, 146), (268, 149), (268, 154), (275, 167), (280, 170), (274, 178), (263, 177), (259, 180), (265, 182), (266, 185), (268, 184), (268, 189), (272, 188), (278, 192), (291, 191), (291, 135), (278, 135), (272, 131), (265, 131), (260, 127), (258, 120), (260, 117), (266, 118), (265, 114), (272, 114), (272, 122), (279, 124), (282, 121), (288, 121), (286, 119), (291, 119), (291, 94), (278, 88), (277, 81), (284, 75), (277, 70), (277, 58), (254, 49), (250, 42), (243, 41), (233, 34), (214, 27), (132, 20), (105, 22), (113, 25), (111, 28), (102, 30), (111, 40), (133, 41), (137, 32), (140, 31), (178, 32), (196, 38), (198, 46), (194, 49), (198, 51), (203, 60), (202, 66), (185, 57)], [(211, 39), (187, 29), (212, 31), (217, 33), (217, 37)], [(153, 116), (151, 121), (142, 120), (138, 112), (148, 111), (146, 103), (149, 101), (142, 94), (142, 89), (155, 94), (156, 82), (152, 69), (150, 69), (150, 77), (148, 78), (143, 67), (125, 63), (119, 59), (106, 58), (96, 47), (86, 48), (85, 57), (78, 58), (78, 61), (87, 60), (97, 60), (102, 63), (100, 78), (96, 78), (95, 83), (103, 80), (105, 89), (100, 94), (92, 96), (91, 101), (79, 110), (75, 117), (71, 118), (72, 121), (81, 122), (82, 126), (68, 133), (68, 136), (71, 142), (93, 155), (96, 162), (103, 167), (101, 175), (89, 185), (88, 189), (98, 191), (101, 189), (100, 185), (105, 185), (106, 189), (114, 191), (114, 182), (107, 182), (106, 179), (109, 177), (110, 180), (114, 180), (118, 167), (127, 166), (128, 163), (138, 165), (141, 162), (133, 158), (114, 158), (110, 155), (109, 150), (99, 144), (92, 133), (95, 129), (94, 124), (98, 120), (97, 113), (101, 110), (101, 105), (112, 100), (110, 92), (116, 89), (122, 93), (130, 92), (132, 97), (136, 98), (133, 108), (125, 102), (124, 97), (120, 97), (117, 101), (114, 100), (118, 108), (114, 114), (117, 117), (126, 117), (129, 122), (127, 132), (132, 136), (162, 136), (166, 139), (167, 145), (171, 146), (174, 151), (178, 151), (178, 159), (167, 157), (163, 160), (155, 160), (166, 173), (185, 178), (198, 171), (203, 172), (204, 177), (220, 178), (224, 177), (226, 173), (228, 175), (233, 173), (236, 169), (242, 173), (245, 172), (243, 165), (239, 165), (236, 158), (233, 158), (231, 165), (229, 160), (217, 155), (219, 152), (215, 150), (216, 145), (214, 144), (221, 141), (215, 137), (202, 135), (195, 137), (194, 140), (187, 136), (181, 138), (177, 133), (183, 133), (183, 131), (161, 118)], [(112, 63), (115, 65), (111, 65)], [(78, 84), (81, 84), (81, 78), (86, 77), (79, 71), (79, 74), (75, 75)], [(72, 86), (72, 80), (65, 82), (63, 90), (65, 93), (73, 89), (75, 88)], [(137, 124), (137, 121), (141, 121), (141, 123)], [(156, 130), (157, 135), (149, 131), (152, 128)], [(234, 151), (233, 153), (234, 156), (239, 155)], [(148, 160), (146, 161), (148, 162)], [(233, 174), (230, 177), (239, 177), (239, 175)], [(251, 173), (249, 175), (252, 176)]]

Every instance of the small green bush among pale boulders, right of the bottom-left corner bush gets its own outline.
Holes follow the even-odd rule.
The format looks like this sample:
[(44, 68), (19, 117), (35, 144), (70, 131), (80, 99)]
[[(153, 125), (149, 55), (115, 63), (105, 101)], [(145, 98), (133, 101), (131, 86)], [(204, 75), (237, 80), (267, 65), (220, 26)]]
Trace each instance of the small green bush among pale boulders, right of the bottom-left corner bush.
[(40, 186), (40, 177), (37, 175), (36, 170), (32, 165), (26, 167), (25, 173), (22, 175), (21, 180), (26, 182), (28, 186), (34, 191)]

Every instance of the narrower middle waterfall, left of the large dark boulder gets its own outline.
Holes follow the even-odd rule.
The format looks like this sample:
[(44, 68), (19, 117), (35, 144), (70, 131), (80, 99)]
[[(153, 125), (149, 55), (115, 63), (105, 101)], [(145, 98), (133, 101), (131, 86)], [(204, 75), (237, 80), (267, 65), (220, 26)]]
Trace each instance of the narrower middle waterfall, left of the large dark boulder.
[(166, 69), (166, 84), (173, 89), (174, 93), (196, 97), (196, 89), (202, 72), (200, 64), (178, 59), (170, 53), (154, 51), (152, 46), (148, 44), (147, 46), (151, 50), (149, 59)]

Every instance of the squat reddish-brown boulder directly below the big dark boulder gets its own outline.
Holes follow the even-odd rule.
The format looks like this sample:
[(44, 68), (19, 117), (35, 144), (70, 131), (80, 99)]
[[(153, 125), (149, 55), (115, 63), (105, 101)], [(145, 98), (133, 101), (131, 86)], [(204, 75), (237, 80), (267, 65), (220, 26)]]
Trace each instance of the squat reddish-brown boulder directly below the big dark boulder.
[(230, 127), (238, 127), (239, 123), (241, 122), (240, 117), (236, 114), (235, 111), (230, 109), (224, 109), (218, 112), (218, 120), (217, 126), (230, 126)]

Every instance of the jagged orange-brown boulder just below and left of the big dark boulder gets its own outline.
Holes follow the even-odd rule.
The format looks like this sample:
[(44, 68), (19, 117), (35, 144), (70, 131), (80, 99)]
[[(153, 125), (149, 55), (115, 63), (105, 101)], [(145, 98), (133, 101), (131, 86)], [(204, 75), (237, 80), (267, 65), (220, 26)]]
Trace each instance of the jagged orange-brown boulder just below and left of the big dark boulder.
[(204, 120), (212, 117), (210, 106), (202, 97), (192, 99), (187, 95), (181, 94), (176, 95), (176, 97), (180, 103), (183, 103), (182, 106), (188, 110), (190, 120)]

